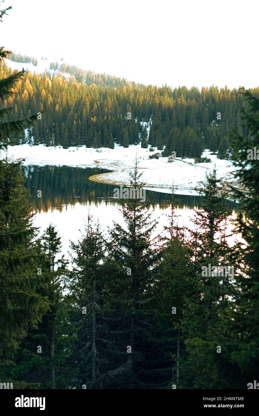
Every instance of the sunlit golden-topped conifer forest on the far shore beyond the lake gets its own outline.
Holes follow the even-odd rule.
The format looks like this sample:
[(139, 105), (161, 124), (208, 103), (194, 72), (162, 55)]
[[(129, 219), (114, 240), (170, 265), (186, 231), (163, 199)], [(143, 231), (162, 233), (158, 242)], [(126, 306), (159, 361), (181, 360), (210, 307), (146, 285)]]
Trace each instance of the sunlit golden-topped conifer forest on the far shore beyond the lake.
[[(245, 134), (238, 115), (244, 105), (242, 89), (160, 88), (61, 67), (72, 79), (64, 79), (62, 72), (52, 77), (29, 72), (15, 94), (3, 100), (4, 109), (13, 107), (5, 116), (8, 121), (40, 113), (27, 134), (14, 134), (15, 144), (112, 149), (114, 143), (128, 147), (141, 142), (144, 148), (163, 150), (162, 156), (175, 151), (178, 157), (200, 158), (210, 149), (229, 158), (231, 127)], [(0, 67), (0, 78), (11, 74), (12, 69)], [(259, 97), (258, 88), (250, 92)]]

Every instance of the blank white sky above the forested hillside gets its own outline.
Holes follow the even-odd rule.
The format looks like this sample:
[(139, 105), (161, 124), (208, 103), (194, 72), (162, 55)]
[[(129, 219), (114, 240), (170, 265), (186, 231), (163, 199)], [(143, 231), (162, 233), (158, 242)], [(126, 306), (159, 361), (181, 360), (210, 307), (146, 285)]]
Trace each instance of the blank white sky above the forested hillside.
[(0, 45), (15, 52), (49, 59), (54, 51), (83, 69), (158, 86), (259, 84), (257, 0), (5, 0), (8, 5)]

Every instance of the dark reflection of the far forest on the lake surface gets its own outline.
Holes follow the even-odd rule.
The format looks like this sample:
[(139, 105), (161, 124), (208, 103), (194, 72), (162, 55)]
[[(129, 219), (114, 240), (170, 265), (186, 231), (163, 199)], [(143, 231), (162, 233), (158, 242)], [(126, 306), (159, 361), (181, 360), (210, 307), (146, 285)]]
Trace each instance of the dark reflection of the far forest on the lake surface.
[[(114, 185), (97, 183), (89, 181), (89, 176), (98, 173), (108, 172), (99, 168), (72, 168), (69, 166), (23, 166), (25, 173), (25, 186), (30, 189), (32, 198), (31, 202), (35, 211), (52, 212), (59, 210), (62, 212), (67, 206), (73, 206), (76, 203), (81, 205), (94, 204), (96, 207), (101, 203), (106, 205), (117, 205), (113, 198)], [(37, 191), (42, 191), (42, 197), (37, 197)], [(148, 191), (147, 191), (148, 192)], [(170, 198), (168, 193), (153, 192), (150, 195), (152, 205), (159, 206), (164, 210), (168, 204), (166, 201)], [(202, 197), (177, 195), (179, 198), (179, 208), (200, 207)], [(237, 206), (234, 202), (229, 203), (232, 210)]]

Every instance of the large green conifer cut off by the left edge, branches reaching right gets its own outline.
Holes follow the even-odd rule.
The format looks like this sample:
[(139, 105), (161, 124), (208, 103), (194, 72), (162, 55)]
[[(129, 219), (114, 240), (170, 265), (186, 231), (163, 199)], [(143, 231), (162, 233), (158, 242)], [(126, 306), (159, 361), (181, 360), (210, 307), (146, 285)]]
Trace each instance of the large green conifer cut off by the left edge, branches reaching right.
[[(0, 20), (8, 9), (0, 12)], [(10, 54), (0, 48), (0, 61)], [(11, 93), (24, 77), (17, 72), (0, 81), (0, 98)], [(9, 137), (20, 134), (37, 115), (14, 121), (3, 121), (7, 108), (0, 110), (0, 149), (7, 149)], [(44, 284), (37, 275), (29, 194), (23, 186), (19, 163), (0, 161), (0, 359), (7, 362), (25, 336), (29, 325), (36, 326), (48, 308), (48, 302), (37, 295)]]

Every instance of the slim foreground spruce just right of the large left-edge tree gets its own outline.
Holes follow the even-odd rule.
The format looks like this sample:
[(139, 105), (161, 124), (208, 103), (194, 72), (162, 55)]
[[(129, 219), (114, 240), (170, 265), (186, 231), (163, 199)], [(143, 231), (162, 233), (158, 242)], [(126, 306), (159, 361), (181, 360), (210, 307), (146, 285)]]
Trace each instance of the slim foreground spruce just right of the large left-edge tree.
[[(17, 382), (26, 382), (31, 388), (55, 389), (63, 385), (62, 374), (66, 364), (67, 329), (64, 321), (64, 299), (62, 289), (67, 261), (59, 257), (61, 239), (52, 225), (37, 240), (37, 253), (43, 254), (39, 279), (44, 277), (45, 285), (38, 294), (49, 300), (49, 311), (45, 313), (37, 328), (30, 327), (15, 354), (15, 367), (8, 376)], [(69, 322), (69, 319), (67, 319)], [(67, 324), (66, 322), (66, 324)], [(70, 344), (71, 339), (70, 339)], [(54, 355), (55, 349), (55, 355)], [(55, 374), (56, 373), (56, 374)]]

